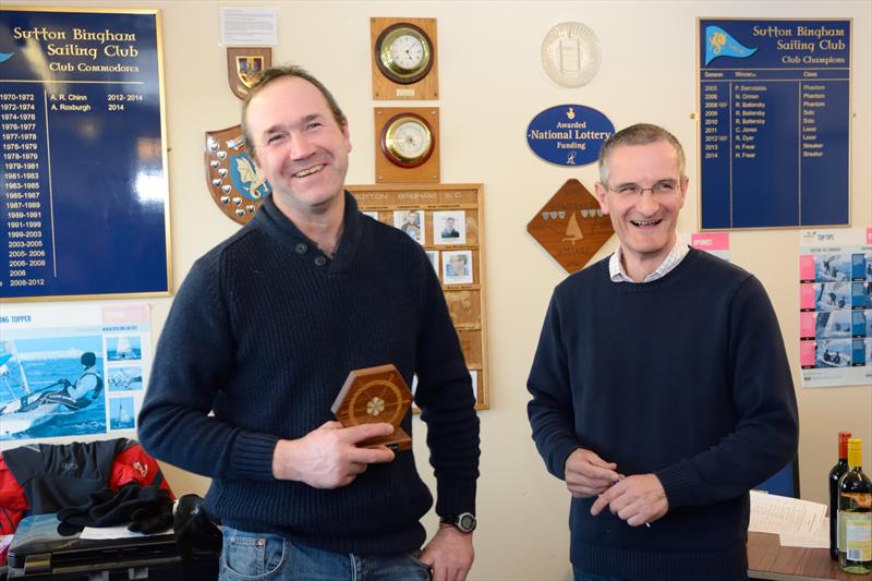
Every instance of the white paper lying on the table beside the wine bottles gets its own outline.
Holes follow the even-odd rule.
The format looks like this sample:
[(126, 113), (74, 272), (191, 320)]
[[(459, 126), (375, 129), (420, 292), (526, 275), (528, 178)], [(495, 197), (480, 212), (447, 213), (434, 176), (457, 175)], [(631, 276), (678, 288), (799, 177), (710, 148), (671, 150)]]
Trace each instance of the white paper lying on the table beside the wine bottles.
[(825, 518), (826, 505), (751, 491), (749, 531), (814, 537)]

